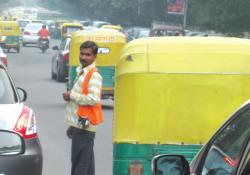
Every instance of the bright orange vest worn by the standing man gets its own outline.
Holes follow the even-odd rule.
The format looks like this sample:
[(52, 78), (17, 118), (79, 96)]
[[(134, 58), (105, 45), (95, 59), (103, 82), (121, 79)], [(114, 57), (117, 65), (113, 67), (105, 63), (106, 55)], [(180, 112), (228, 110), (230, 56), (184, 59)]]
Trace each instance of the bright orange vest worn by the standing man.
[[(94, 72), (97, 72), (97, 69), (92, 68), (87, 75), (85, 76), (82, 83), (82, 93), (84, 95), (88, 95), (88, 85), (89, 80)], [(98, 125), (103, 122), (103, 113), (102, 113), (102, 105), (98, 103), (94, 106), (91, 105), (81, 105), (78, 107), (77, 115), (81, 118), (87, 118), (92, 125)]]

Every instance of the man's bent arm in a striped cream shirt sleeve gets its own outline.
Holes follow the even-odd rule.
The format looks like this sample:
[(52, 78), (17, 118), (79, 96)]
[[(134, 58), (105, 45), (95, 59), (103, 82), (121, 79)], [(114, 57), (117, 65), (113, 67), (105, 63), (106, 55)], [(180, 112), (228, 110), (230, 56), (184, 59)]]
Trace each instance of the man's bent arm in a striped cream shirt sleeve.
[[(82, 89), (82, 84), (79, 85)], [(89, 80), (88, 95), (71, 91), (70, 99), (79, 105), (95, 105), (101, 101), (102, 77), (99, 73), (93, 73)]]

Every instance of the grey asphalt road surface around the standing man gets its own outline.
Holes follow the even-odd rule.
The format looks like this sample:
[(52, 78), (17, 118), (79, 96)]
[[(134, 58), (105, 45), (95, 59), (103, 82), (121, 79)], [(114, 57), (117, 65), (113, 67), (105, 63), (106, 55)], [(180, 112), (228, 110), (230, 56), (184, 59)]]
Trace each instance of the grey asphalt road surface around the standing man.
[[(51, 41), (51, 46), (59, 41)], [(55, 51), (49, 49), (42, 54), (37, 47), (21, 47), (20, 54), (7, 53), (8, 69), (16, 86), (28, 93), (26, 104), (37, 118), (44, 165), (43, 175), (69, 175), (71, 140), (65, 135), (65, 102), (62, 92), (65, 83), (51, 79), (51, 57)], [(113, 101), (103, 100), (105, 123), (99, 126), (95, 139), (96, 175), (112, 174), (112, 115)]]

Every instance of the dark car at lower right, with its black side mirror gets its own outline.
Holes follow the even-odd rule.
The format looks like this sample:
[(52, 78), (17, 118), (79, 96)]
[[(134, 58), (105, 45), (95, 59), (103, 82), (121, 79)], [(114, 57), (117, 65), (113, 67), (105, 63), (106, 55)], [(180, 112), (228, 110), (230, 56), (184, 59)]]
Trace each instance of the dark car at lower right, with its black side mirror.
[(202, 148), (189, 168), (182, 155), (157, 155), (154, 175), (249, 175), (250, 101), (237, 110)]

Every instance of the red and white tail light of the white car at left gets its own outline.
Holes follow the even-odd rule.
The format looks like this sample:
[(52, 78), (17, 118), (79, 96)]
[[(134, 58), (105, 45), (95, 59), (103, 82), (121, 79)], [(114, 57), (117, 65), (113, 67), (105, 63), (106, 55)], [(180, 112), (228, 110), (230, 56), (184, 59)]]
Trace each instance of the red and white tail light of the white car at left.
[(14, 127), (14, 131), (20, 133), (23, 138), (36, 138), (36, 120), (34, 113), (28, 107), (24, 107), (23, 111)]

